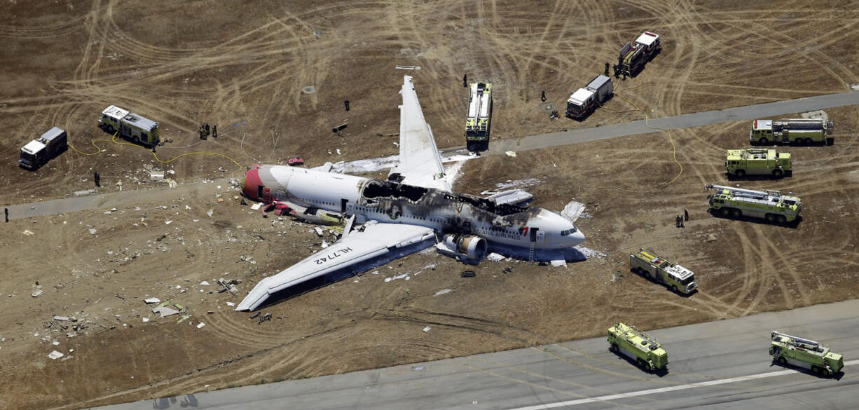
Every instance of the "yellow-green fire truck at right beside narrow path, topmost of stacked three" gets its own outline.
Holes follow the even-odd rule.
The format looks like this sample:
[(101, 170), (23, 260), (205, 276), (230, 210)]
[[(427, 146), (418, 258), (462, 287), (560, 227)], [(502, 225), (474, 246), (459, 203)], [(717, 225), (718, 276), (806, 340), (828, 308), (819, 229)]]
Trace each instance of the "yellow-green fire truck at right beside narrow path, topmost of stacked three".
[(755, 119), (749, 131), (749, 142), (832, 145), (832, 128), (832, 121), (828, 119)]

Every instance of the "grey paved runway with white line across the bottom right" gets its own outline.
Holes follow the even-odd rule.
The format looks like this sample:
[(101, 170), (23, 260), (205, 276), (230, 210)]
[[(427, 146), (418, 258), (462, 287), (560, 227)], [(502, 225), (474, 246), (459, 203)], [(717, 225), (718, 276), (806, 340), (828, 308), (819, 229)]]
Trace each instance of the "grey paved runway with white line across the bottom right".
[[(767, 352), (771, 330), (818, 340), (833, 352), (844, 354), (844, 373), (823, 378), (805, 370), (772, 364)], [(649, 334), (660, 340), (668, 352), (669, 371), (665, 375), (638, 370), (609, 352), (606, 339), (600, 337), (99, 408), (834, 410), (857, 407), (857, 300), (671, 327)]]

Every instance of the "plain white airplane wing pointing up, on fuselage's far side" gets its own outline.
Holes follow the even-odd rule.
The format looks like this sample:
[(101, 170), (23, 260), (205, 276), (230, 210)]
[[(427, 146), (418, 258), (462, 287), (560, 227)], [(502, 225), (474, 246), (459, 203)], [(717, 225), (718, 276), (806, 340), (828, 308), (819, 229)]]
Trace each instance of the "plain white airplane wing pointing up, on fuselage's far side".
[(436, 147), (430, 125), (423, 118), (411, 76), (404, 76), (403, 105), (399, 106), (399, 164), (391, 174), (399, 174), (404, 184), (450, 192), (444, 179), (442, 156)]

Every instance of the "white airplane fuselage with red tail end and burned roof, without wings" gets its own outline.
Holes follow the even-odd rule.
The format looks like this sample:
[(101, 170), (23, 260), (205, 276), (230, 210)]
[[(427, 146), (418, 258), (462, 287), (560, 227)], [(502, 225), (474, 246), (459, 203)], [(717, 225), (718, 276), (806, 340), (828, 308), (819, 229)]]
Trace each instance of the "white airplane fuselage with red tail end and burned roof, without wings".
[(570, 248), (584, 241), (568, 219), (541, 208), (495, 205), (472, 195), (348, 174), (263, 165), (248, 171), (244, 191), (267, 203), (284, 201), (355, 215), (355, 223), (408, 223), (520, 247)]

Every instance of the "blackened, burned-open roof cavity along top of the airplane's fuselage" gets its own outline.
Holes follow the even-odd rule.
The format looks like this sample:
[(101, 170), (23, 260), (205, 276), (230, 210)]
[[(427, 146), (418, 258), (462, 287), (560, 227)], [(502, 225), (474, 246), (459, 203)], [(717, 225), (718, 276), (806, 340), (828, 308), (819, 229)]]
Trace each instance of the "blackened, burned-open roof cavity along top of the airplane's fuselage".
[(435, 198), (436, 200), (438, 200), (442, 199), (443, 197), (448, 201), (469, 204), (480, 210), (487, 211), (495, 215), (500, 215), (502, 217), (528, 210), (528, 208), (518, 205), (498, 205), (492, 199), (480, 198), (474, 195), (468, 195), (466, 193), (446, 193), (443, 191), (438, 191), (436, 189), (400, 184), (396, 181), (369, 181), (364, 187), (362, 194), (365, 199), (408, 199), (414, 203), (419, 203), (421, 202), (421, 199), (424, 198), (427, 198), (427, 200), (432, 201), (433, 199), (430, 198)]

